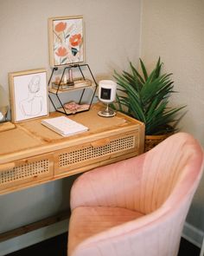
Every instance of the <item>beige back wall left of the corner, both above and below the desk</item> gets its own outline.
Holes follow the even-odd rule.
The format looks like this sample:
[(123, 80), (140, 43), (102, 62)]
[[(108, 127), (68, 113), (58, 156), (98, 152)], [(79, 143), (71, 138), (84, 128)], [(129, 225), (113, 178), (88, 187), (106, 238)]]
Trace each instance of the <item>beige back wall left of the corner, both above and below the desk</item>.
[[(84, 16), (86, 62), (98, 81), (112, 77), (113, 69), (125, 69), (127, 59), (139, 57), (140, 13), (140, 0), (1, 0), (0, 84), (9, 93), (9, 72), (46, 68), (50, 73), (52, 16)], [(0, 196), (0, 233), (67, 208), (71, 184), (65, 179)]]

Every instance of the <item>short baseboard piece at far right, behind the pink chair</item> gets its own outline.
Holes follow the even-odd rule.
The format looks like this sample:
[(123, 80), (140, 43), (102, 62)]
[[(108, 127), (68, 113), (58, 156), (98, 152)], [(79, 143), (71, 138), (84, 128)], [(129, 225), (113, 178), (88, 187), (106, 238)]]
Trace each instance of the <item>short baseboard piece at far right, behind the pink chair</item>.
[(182, 237), (185, 240), (188, 240), (190, 243), (194, 244), (194, 246), (201, 248), (204, 232), (201, 231), (201, 229), (192, 226), (188, 222), (185, 222), (184, 228), (182, 230)]

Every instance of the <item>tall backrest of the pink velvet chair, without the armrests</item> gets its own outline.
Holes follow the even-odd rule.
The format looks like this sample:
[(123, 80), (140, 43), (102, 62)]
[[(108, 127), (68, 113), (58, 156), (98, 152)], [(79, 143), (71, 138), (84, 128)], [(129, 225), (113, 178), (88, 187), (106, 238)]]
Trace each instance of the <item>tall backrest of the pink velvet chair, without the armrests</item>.
[[(193, 136), (178, 133), (146, 153), (139, 210), (150, 213), (169, 201), (188, 199), (201, 180), (203, 150)], [(167, 202), (168, 200), (168, 202)]]

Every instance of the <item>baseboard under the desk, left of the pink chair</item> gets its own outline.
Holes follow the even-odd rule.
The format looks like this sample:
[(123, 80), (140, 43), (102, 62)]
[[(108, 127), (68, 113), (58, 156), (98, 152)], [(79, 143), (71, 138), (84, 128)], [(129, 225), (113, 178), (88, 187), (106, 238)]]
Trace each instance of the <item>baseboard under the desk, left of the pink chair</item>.
[(13, 253), (22, 248), (35, 245), (43, 240), (48, 240), (68, 230), (68, 220), (62, 220), (53, 225), (42, 227), (35, 231), (23, 234), (16, 238), (5, 240), (0, 243), (0, 256)]

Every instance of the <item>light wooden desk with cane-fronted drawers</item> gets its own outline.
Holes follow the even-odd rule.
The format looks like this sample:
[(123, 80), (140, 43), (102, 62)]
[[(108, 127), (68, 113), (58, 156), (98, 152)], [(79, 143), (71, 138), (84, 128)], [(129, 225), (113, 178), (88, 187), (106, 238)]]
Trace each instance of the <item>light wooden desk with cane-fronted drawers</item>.
[[(93, 167), (143, 153), (144, 125), (121, 113), (112, 118), (90, 111), (69, 115), (89, 128), (62, 137), (41, 125), (24, 121), (0, 133), (0, 194), (78, 174)], [(49, 117), (59, 116), (52, 113)]]

